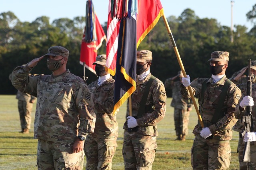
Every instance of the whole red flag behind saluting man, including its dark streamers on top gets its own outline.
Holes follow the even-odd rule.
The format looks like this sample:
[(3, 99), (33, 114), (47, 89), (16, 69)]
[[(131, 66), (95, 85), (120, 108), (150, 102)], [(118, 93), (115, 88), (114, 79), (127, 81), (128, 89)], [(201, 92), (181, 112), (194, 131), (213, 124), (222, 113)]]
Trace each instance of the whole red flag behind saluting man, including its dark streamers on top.
[(80, 64), (83, 65), (91, 72), (95, 72), (97, 50), (101, 47), (102, 41), (106, 40), (106, 35), (103, 31), (97, 15), (94, 13), (94, 8), (91, 0), (86, 2), (86, 26), (82, 38), (81, 51), (80, 51)]

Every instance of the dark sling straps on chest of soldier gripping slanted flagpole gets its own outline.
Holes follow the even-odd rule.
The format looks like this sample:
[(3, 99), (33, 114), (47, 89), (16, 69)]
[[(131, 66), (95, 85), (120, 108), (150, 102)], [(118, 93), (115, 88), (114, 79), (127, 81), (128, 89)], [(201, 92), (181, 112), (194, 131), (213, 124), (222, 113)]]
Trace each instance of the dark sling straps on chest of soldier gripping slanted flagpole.
[[(200, 113), (201, 113), (201, 110), (202, 110), (202, 103), (203, 103), (203, 100), (204, 100), (204, 92), (207, 88), (207, 84), (206, 82), (208, 81), (205, 80), (203, 83), (202, 83), (202, 91), (201, 91), (201, 105), (200, 105)], [(219, 119), (221, 119), (226, 113), (221, 113), (221, 109), (222, 109), (222, 106), (224, 104), (224, 101), (226, 99), (226, 96), (227, 96), (227, 93), (228, 93), (228, 88), (231, 86), (231, 81), (230, 80), (226, 80), (226, 82), (224, 83), (223, 85), (223, 88), (221, 89), (222, 92), (220, 93), (220, 96), (219, 96), (219, 101), (218, 101), (218, 104), (217, 104), (217, 107), (216, 107), (216, 110), (214, 112), (214, 116), (211, 120), (211, 123), (216, 123)], [(201, 115), (202, 116), (202, 115)]]

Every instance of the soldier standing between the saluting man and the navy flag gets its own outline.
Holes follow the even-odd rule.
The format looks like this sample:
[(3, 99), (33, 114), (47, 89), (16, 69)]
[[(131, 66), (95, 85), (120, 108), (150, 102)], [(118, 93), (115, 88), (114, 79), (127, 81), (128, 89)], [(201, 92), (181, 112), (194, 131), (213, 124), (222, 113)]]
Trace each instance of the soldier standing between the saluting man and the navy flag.
[(111, 170), (116, 151), (118, 123), (114, 109), (115, 80), (105, 71), (106, 55), (98, 55), (95, 72), (98, 80), (88, 85), (94, 102), (96, 123), (94, 133), (87, 135), (84, 145), (86, 170)]

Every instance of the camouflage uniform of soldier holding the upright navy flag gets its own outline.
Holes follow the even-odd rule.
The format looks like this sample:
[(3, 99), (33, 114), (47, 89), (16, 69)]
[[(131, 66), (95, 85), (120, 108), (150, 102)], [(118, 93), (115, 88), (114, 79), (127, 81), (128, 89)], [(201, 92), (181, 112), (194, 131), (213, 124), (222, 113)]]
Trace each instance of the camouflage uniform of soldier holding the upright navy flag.
[[(150, 52), (151, 53), (151, 52)], [(151, 53), (152, 55), (152, 53)], [(137, 53), (138, 60), (138, 53)], [(144, 80), (136, 78), (136, 90), (132, 94), (132, 116), (137, 116), (145, 86), (151, 74)], [(154, 109), (153, 109), (153, 108)], [(166, 92), (164, 84), (157, 78), (152, 82), (146, 101), (146, 113), (137, 119), (138, 131), (128, 132), (127, 121), (124, 123), (123, 157), (125, 170), (151, 170), (156, 154), (156, 124), (164, 118), (166, 111)], [(129, 115), (129, 102), (126, 115)]]

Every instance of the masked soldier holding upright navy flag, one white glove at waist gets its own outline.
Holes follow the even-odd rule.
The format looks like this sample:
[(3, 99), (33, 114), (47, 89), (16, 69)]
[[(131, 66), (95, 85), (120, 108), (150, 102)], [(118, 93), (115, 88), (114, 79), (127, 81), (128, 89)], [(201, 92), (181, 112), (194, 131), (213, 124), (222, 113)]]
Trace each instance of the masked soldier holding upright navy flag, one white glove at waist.
[(158, 136), (156, 124), (165, 115), (166, 92), (164, 84), (151, 75), (151, 63), (151, 51), (137, 51), (136, 90), (132, 94), (132, 116), (128, 116), (128, 101), (126, 112), (128, 120), (123, 126), (122, 153), (125, 170), (151, 170), (156, 154)]

